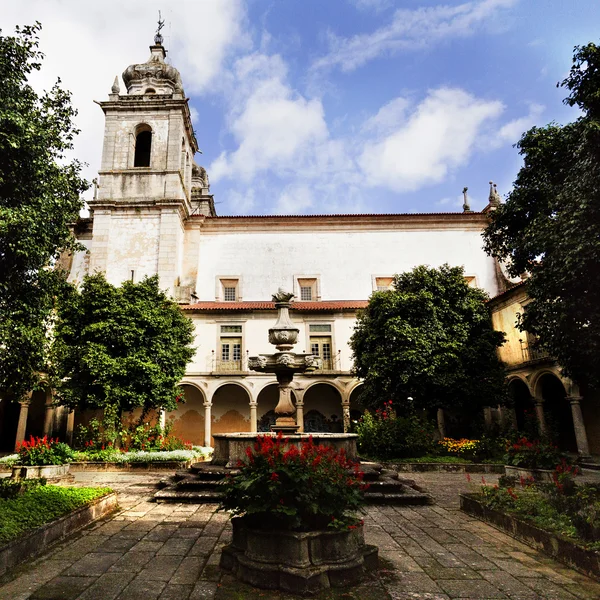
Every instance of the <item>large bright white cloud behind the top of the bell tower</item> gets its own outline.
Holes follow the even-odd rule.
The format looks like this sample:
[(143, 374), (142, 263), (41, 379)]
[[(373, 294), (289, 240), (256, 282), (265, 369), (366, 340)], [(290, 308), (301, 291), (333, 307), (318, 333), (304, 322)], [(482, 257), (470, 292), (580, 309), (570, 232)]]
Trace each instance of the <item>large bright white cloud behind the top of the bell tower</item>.
[[(49, 89), (58, 76), (73, 94), (81, 134), (75, 155), (89, 163), (84, 175), (95, 177), (100, 167), (104, 115), (93, 99), (104, 100), (115, 75), (133, 62), (144, 62), (153, 42), (158, 10), (166, 26), (165, 46), (181, 71), (187, 92), (206, 90), (219, 75), (228, 54), (247, 46), (242, 0), (173, 3), (165, 10), (158, 0), (82, 2), (28, 0), (3, 2), (3, 35), (14, 25), (42, 23), (40, 49), (46, 55), (42, 70), (32, 78), (38, 89)], [(121, 83), (121, 93), (125, 89)], [(88, 196), (91, 192), (88, 192)]]

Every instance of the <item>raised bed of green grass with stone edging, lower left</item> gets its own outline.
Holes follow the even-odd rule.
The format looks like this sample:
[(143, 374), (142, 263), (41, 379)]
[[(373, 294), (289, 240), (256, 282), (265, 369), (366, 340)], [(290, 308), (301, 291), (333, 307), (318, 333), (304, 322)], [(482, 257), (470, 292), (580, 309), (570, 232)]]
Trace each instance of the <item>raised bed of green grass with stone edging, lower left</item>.
[(109, 488), (41, 486), (0, 499), (0, 576), (116, 508)]

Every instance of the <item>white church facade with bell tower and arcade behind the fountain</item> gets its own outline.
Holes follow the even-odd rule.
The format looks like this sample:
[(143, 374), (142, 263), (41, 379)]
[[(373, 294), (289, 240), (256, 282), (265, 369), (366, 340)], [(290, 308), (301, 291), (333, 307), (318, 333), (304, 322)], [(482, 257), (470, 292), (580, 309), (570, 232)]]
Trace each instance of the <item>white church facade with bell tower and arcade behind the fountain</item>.
[(218, 216), (206, 171), (194, 162), (198, 143), (179, 73), (161, 44), (150, 52), (123, 73), (124, 93), (115, 79), (99, 103), (102, 163), (91, 216), (76, 229), (86, 251), (72, 257), (71, 281), (95, 271), (115, 285), (159, 275), (196, 330), (186, 402), (167, 418), (179, 435), (206, 445), (212, 433), (268, 429), (275, 379), (247, 362), (273, 351), (271, 295), (293, 291), (296, 350), (323, 363), (295, 380), (298, 423), (342, 430), (360, 408), (348, 341), (374, 290), (416, 265), (443, 263), (463, 266), (491, 296), (500, 290), (496, 263), (482, 249), (485, 212)]

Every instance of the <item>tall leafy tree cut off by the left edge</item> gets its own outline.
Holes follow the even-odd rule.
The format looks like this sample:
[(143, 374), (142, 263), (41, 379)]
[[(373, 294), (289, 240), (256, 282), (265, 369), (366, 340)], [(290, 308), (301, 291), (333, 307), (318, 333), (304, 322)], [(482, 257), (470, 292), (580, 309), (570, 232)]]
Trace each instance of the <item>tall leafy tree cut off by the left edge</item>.
[(48, 328), (64, 277), (50, 268), (73, 247), (69, 223), (86, 189), (81, 165), (66, 162), (77, 130), (60, 80), (38, 95), (40, 24), (0, 30), (0, 395), (19, 399), (46, 369)]

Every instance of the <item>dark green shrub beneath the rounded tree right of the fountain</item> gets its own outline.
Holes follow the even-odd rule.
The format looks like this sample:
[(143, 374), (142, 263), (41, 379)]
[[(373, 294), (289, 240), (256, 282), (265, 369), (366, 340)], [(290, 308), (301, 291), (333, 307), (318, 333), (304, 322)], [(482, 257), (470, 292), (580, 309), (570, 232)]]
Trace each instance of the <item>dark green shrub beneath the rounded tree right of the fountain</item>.
[(361, 456), (389, 460), (436, 453), (433, 424), (417, 415), (399, 417), (391, 400), (375, 413), (366, 410), (355, 431)]

